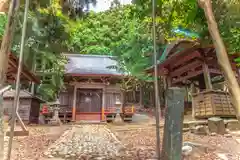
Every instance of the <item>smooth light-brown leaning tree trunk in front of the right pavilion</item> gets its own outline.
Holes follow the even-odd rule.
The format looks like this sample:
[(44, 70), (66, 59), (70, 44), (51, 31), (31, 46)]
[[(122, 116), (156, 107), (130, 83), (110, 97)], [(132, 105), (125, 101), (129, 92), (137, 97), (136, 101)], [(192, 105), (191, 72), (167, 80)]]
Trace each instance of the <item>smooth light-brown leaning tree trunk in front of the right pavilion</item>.
[(226, 48), (220, 36), (219, 29), (213, 15), (211, 0), (198, 0), (200, 7), (204, 10), (207, 19), (208, 30), (212, 37), (214, 47), (216, 49), (217, 59), (222, 68), (224, 78), (227, 82), (232, 102), (236, 110), (236, 116), (240, 122), (240, 88), (237, 78), (232, 70)]

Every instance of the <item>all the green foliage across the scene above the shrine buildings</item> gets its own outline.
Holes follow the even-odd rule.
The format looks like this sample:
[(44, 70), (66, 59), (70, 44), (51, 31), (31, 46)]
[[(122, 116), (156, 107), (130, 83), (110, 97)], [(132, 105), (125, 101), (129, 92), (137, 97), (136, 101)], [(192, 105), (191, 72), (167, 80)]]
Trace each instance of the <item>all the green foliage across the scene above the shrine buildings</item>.
[[(82, 6), (90, 2), (83, 1)], [(213, 2), (221, 36), (229, 53), (239, 52), (240, 27), (236, 23), (240, 20), (239, 2)], [(48, 0), (34, 1), (32, 8), (36, 9), (28, 17), (24, 51), (28, 66), (34, 68), (35, 62), (37, 64), (37, 71), (42, 76), (38, 92), (46, 99), (54, 99), (59, 88), (63, 87), (66, 60), (60, 53), (65, 51), (116, 56), (119, 65), (115, 67), (133, 76), (130, 81), (123, 82), (123, 88), (129, 89), (128, 84), (138, 85), (149, 79), (144, 69), (152, 65), (151, 0), (134, 0), (135, 4), (126, 6), (116, 2), (108, 11), (88, 14), (82, 14), (83, 7), (80, 11), (73, 10), (72, 4), (62, 4), (60, 0), (47, 6), (48, 3)], [(197, 0), (158, 0), (156, 11), (158, 51), (164, 44), (179, 38), (211, 43), (205, 15)], [(20, 20), (22, 14), (19, 14)], [(72, 15), (77, 19), (71, 20)], [(0, 17), (2, 21), (5, 23), (6, 19)], [(0, 35), (4, 23), (0, 23)], [(18, 24), (14, 38), (15, 52), (19, 52), (21, 25)], [(182, 32), (173, 32), (176, 29)], [(199, 37), (191, 32), (198, 33)]]

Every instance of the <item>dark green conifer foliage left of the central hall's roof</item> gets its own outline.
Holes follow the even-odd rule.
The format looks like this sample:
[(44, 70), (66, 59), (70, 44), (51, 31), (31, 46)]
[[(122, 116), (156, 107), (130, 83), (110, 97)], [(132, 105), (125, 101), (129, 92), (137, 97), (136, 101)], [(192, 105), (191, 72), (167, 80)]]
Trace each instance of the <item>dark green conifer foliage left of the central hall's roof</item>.
[[(16, 54), (20, 50), (22, 17), (21, 9), (12, 48)], [(38, 8), (30, 11), (28, 15), (24, 62), (41, 77), (37, 94), (45, 100), (54, 100), (59, 89), (64, 87), (64, 65), (67, 61), (61, 53), (67, 51), (65, 41), (69, 37), (66, 30), (69, 21), (59, 5)]]

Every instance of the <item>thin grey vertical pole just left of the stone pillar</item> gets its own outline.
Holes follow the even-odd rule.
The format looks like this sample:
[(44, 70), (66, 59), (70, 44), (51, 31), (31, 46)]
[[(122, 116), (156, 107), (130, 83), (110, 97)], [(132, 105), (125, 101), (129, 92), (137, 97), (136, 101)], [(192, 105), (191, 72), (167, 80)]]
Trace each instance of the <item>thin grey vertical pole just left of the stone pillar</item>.
[(158, 69), (157, 69), (157, 46), (156, 46), (156, 11), (155, 11), (156, 2), (152, 0), (152, 38), (153, 38), (153, 52), (154, 52), (154, 90), (155, 90), (155, 117), (156, 117), (156, 152), (158, 156), (158, 160), (160, 160), (160, 100), (159, 100), (159, 90), (158, 90)]

